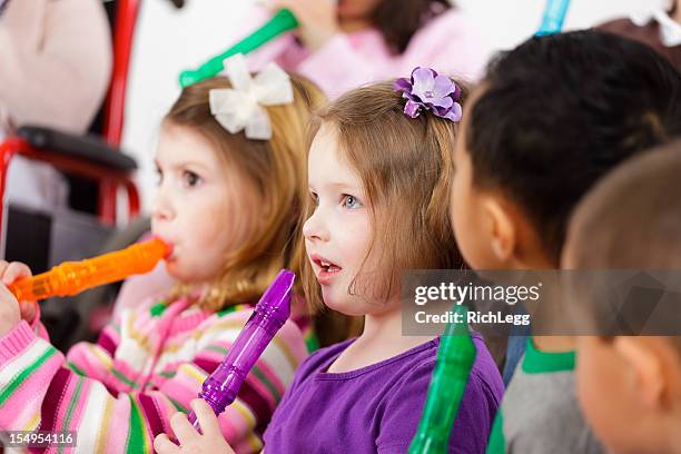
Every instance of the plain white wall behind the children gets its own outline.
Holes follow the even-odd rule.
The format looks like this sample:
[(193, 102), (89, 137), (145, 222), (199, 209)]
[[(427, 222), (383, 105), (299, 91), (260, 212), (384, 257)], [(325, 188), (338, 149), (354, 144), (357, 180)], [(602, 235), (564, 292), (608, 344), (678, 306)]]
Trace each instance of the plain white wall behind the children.
[[(480, 28), (491, 51), (511, 48), (541, 22), (546, 0), (456, 0)], [(565, 29), (585, 28), (667, 0), (572, 0)], [(134, 43), (122, 146), (138, 159), (142, 208), (154, 193), (152, 155), (162, 116), (179, 93), (177, 77), (219, 53), (243, 28), (253, 0), (144, 0)]]

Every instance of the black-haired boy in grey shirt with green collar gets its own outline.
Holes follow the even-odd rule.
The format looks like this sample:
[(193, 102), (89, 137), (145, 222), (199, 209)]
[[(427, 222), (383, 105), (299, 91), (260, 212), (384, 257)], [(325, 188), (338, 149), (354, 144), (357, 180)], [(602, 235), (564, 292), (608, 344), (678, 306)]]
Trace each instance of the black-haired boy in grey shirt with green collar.
[[(610, 33), (532, 38), (488, 69), (454, 154), (452, 218), (474, 269), (555, 269), (568, 220), (615, 166), (681, 132), (681, 76)], [(625, 245), (622, 245), (625, 247)], [(490, 453), (601, 453), (574, 394), (573, 339), (534, 337)]]

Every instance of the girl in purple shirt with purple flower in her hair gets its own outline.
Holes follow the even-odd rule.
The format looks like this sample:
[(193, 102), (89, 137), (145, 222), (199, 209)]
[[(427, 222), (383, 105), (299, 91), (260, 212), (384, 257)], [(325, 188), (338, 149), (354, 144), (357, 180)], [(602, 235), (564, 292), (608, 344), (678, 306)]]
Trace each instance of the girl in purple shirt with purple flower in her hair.
[[(438, 88), (443, 79), (444, 92), (460, 92), (442, 77)], [(368, 86), (319, 116), (308, 156), (312, 210), (303, 229), (306, 295), (313, 305), (323, 298), (335, 310), (363, 315), (364, 330), (315, 353), (296, 372), (265, 434), (268, 452), (404, 453), (416, 432), (440, 339), (402, 335), (401, 273), (463, 263), (447, 218), (452, 119), (458, 120), (460, 105), (443, 101), (451, 106), (438, 110), (446, 118), (414, 112), (424, 106), (414, 101), (415, 91), (405, 108), (391, 85)], [(484, 452), (503, 392), (482, 338), (472, 336), (477, 357), (451, 452)], [(174, 423), (185, 446), (217, 443), (214, 431), (201, 438), (181, 416)], [(157, 450), (178, 447), (161, 436)]]

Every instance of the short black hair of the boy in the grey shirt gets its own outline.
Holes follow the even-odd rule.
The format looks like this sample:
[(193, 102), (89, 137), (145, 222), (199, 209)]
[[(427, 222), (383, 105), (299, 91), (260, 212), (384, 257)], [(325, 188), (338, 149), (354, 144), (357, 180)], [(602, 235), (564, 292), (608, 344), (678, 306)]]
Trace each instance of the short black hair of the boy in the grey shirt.
[(557, 265), (570, 214), (589, 188), (681, 132), (681, 75), (614, 34), (534, 37), (490, 63), (468, 115), (475, 186), (516, 203)]

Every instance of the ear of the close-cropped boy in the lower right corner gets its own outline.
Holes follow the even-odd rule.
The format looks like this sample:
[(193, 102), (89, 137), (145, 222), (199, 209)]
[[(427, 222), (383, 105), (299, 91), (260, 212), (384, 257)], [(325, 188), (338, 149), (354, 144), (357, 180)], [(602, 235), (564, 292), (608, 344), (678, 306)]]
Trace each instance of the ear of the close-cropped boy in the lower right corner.
[(615, 352), (633, 372), (632, 393), (639, 394), (641, 403), (649, 409), (660, 408), (669, 391), (669, 376), (664, 371), (665, 353), (659, 348), (662, 345), (657, 344), (634, 336), (618, 336), (613, 339)]

